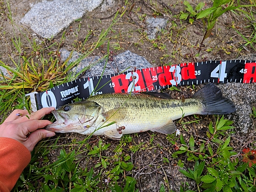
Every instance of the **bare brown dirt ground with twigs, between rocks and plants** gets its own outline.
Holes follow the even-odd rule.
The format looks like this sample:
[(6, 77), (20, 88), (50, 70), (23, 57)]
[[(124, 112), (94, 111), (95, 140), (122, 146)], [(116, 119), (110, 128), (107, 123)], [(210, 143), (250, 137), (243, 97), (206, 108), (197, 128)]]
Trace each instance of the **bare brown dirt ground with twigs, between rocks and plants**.
[[(35, 2), (30, 1), (30, 3)], [(200, 1), (189, 0), (188, 2), (191, 6), (196, 7)], [(204, 1), (204, 3), (205, 8), (212, 6), (211, 1)], [(241, 3), (248, 4), (247, 1)], [(246, 19), (241, 12), (239, 12), (239, 15), (229, 11), (220, 16), (217, 25), (212, 30), (210, 37), (203, 42), (201, 51), (198, 54), (206, 27), (202, 19), (195, 19), (193, 24), (189, 24), (188, 20), (179, 19), (180, 11), (185, 12), (185, 6), (182, 1), (129, 1), (126, 7), (124, 7), (125, 1), (116, 1), (115, 6), (107, 12), (100, 12), (100, 8), (97, 8), (73, 22), (64, 31), (65, 38), (62, 41), (63, 32), (53, 39), (44, 39), (34, 34), (28, 27), (19, 25), (20, 18), (29, 10), (28, 6), (26, 6), (27, 4), (25, 1), (10, 1), (13, 22), (17, 27), (11, 25), (6, 2), (0, 2), (0, 60), (7, 65), (13, 65), (11, 58), (18, 62), (20, 54), (27, 54), (39, 60), (37, 53), (39, 52), (47, 58), (49, 57), (48, 53), (57, 51), (58, 45), (60, 45), (59, 48), (65, 48), (70, 51), (87, 52), (93, 42), (97, 40), (100, 32), (111, 25), (117, 10), (124, 10), (126, 7), (129, 7), (128, 11), (112, 27), (108, 35), (112, 37), (110, 51), (113, 51), (113, 54), (130, 50), (145, 57), (154, 66), (163, 66), (194, 61), (230, 60), (254, 53), (250, 45), (244, 46), (246, 41), (237, 33), (238, 31), (245, 37), (249, 37), (253, 30), (251, 21)], [(255, 11), (254, 8), (254, 13)], [(145, 33), (146, 19), (150, 17), (168, 20), (165, 29), (158, 34), (159, 37), (155, 40), (148, 40)], [(22, 33), (26, 34), (28, 38)], [(90, 33), (89, 39), (83, 45), (88, 33)], [(17, 38), (20, 38), (21, 53), (17, 51), (13, 44), (14, 34), (17, 35)], [(61, 44), (59, 44), (60, 41)], [(33, 42), (35, 43), (33, 44)], [(49, 47), (54, 42), (56, 42), (56, 45)], [(255, 47), (255, 42), (252, 45)], [(92, 55), (103, 56), (106, 52), (107, 43), (96, 49)], [(199, 87), (202, 86), (196, 86), (196, 88)], [(176, 91), (171, 95), (175, 98), (187, 98), (193, 95), (190, 88), (182, 87), (181, 90), (182, 92)], [(186, 140), (188, 140), (190, 134), (198, 136), (196, 140), (200, 139), (200, 135), (205, 135), (207, 125), (213, 119), (213, 116), (199, 116), (199, 118), (202, 119), (199, 124), (187, 124), (185, 129), (176, 121), (178, 129), (184, 134)], [(184, 121), (192, 120), (195, 120), (193, 116), (184, 118)], [(254, 129), (255, 124), (252, 125), (251, 132)], [(146, 132), (132, 135), (134, 143), (144, 143), (141, 145), (143, 150), (138, 150), (135, 153), (128, 150), (129, 146), (125, 146), (127, 147), (127, 154), (132, 157), (132, 162), (135, 166), (131, 175), (137, 179), (139, 191), (159, 191), (161, 184), (165, 186), (166, 191), (170, 191), (170, 189), (179, 191), (180, 185), (185, 185), (185, 182), (188, 183), (190, 189), (195, 189), (195, 183), (188, 180), (178, 171), (180, 168), (177, 165), (179, 159), (184, 161), (186, 166), (189, 166), (189, 162), (186, 162), (186, 158), (183, 156), (173, 159), (172, 153), (175, 152), (175, 146), (166, 139), (166, 136), (158, 133), (155, 133), (155, 135), (153, 143), (150, 142), (152, 133)], [(63, 137), (83, 139), (82, 135), (73, 133), (63, 134)], [(246, 140), (245, 137), (240, 138)], [(97, 137), (92, 139), (97, 140)], [(103, 140), (106, 143), (111, 143), (113, 148), (118, 145), (118, 141), (106, 138), (103, 138)], [(59, 144), (65, 142), (67, 141), (59, 140)], [(109, 148), (106, 155), (111, 155), (111, 149), (113, 148)], [(58, 151), (53, 151), (49, 159), (54, 160), (58, 155)], [(163, 157), (169, 159), (169, 162), (163, 161)], [(80, 165), (87, 166), (88, 162), (86, 160), (81, 161)]]

